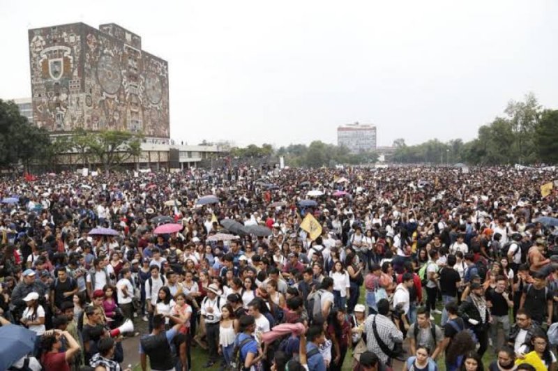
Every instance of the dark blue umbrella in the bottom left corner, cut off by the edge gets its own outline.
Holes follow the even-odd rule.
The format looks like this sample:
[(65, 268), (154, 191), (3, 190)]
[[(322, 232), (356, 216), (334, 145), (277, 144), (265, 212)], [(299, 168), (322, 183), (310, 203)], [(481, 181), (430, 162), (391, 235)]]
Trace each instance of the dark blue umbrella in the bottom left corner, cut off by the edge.
[(36, 333), (15, 324), (0, 327), (0, 370), (8, 370), (15, 361), (35, 348)]

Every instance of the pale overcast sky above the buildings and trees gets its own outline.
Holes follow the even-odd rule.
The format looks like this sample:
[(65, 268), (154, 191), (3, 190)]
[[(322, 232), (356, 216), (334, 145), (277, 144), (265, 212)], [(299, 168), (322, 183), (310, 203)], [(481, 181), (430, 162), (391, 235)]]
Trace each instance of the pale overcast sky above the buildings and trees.
[(27, 29), (114, 22), (169, 62), (188, 144), (335, 143), (355, 121), (379, 145), (467, 140), (529, 91), (558, 108), (555, 0), (0, 4), (0, 98), (31, 96)]

